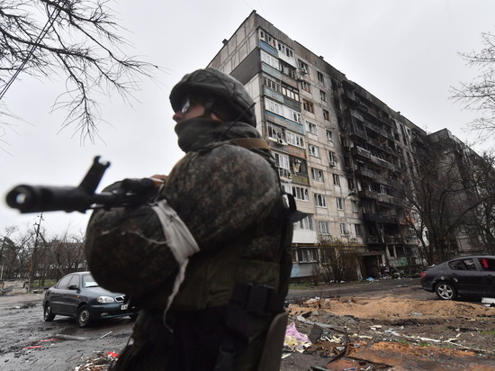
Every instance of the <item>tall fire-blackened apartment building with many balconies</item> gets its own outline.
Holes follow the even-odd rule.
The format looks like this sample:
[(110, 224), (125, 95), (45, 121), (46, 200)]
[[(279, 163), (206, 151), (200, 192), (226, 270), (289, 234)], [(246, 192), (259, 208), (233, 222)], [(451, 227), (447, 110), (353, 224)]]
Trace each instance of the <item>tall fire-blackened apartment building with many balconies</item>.
[(425, 131), (256, 11), (209, 67), (247, 87), (285, 191), (308, 214), (295, 225), (294, 280), (311, 277), (321, 240), (357, 247), (359, 278), (422, 265), (403, 187)]

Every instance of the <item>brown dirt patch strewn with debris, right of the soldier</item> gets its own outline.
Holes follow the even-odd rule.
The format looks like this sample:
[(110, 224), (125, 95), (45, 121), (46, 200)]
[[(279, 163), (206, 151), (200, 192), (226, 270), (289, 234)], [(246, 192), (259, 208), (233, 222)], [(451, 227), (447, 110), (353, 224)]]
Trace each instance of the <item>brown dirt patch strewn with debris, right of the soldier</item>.
[(417, 294), (405, 288), (291, 304), (289, 321), (317, 340), (286, 352), (281, 369), (495, 369), (495, 308)]

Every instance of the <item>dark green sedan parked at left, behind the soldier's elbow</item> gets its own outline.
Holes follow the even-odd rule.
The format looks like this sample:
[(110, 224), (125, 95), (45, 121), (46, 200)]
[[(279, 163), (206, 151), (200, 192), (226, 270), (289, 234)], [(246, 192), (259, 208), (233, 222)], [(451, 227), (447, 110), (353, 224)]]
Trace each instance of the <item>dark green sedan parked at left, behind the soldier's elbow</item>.
[(55, 315), (76, 317), (80, 327), (91, 321), (130, 316), (135, 319), (139, 310), (124, 294), (115, 294), (100, 287), (90, 272), (76, 272), (63, 276), (50, 287), (43, 298), (43, 318), (53, 321)]

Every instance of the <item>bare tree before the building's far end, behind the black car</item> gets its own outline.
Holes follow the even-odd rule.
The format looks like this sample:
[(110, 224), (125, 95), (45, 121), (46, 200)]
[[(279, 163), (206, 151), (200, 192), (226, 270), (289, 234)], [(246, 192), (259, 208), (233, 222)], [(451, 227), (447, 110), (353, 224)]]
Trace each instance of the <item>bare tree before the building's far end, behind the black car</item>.
[[(421, 241), (421, 254), (428, 264), (444, 261), (464, 252), (459, 239), (480, 249), (479, 208), (490, 204), (494, 194), (487, 169), (490, 164), (452, 138), (437, 138), (417, 151), (412, 184), (404, 186), (405, 200), (419, 214), (410, 222)], [(482, 188), (485, 190), (482, 191)], [(492, 210), (491, 210), (492, 211)], [(490, 213), (490, 212), (489, 212)], [(428, 239), (424, 239), (428, 231)]]

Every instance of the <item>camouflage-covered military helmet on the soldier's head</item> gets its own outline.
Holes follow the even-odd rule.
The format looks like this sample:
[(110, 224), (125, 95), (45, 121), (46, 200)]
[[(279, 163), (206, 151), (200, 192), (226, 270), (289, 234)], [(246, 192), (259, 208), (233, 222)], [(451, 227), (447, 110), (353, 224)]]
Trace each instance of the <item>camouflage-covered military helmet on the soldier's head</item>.
[[(185, 75), (172, 89), (170, 103), (174, 112), (181, 109), (187, 95), (204, 97), (213, 101), (213, 107), (229, 111), (239, 122), (257, 126), (253, 99), (246, 88), (234, 77), (216, 68), (198, 69)], [(225, 104), (226, 107), (220, 107)], [(214, 108), (212, 109), (214, 112)]]

